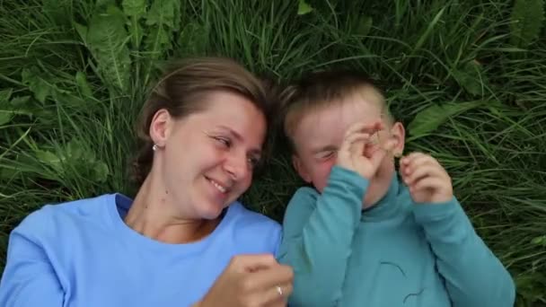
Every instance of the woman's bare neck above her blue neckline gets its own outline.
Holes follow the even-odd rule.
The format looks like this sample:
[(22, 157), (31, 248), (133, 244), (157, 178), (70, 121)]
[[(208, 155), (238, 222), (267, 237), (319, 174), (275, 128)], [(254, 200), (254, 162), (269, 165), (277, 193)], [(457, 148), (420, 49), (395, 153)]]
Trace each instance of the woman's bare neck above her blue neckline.
[(151, 239), (171, 244), (199, 241), (216, 229), (221, 217), (196, 219), (175, 214), (175, 206), (160, 185), (148, 178), (138, 190), (124, 222)]

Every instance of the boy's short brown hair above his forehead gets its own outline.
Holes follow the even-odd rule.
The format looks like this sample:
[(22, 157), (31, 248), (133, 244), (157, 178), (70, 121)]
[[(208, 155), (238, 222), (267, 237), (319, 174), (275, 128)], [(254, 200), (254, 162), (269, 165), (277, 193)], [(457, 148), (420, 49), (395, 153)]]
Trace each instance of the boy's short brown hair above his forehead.
[(342, 104), (348, 97), (361, 94), (378, 103), (382, 116), (389, 122), (392, 115), (383, 91), (367, 75), (354, 70), (330, 70), (304, 75), (298, 82), (289, 85), (281, 94), (282, 130), (287, 145), (295, 153), (294, 132), (300, 120), (309, 112), (331, 105)]

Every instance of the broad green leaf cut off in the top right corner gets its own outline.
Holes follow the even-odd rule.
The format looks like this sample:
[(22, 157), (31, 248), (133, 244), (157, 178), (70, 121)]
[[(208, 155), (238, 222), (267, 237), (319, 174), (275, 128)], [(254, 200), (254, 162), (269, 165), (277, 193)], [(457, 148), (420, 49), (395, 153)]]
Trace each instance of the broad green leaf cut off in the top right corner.
[(543, 0), (515, 0), (510, 23), (512, 44), (526, 48), (538, 39), (544, 19)]

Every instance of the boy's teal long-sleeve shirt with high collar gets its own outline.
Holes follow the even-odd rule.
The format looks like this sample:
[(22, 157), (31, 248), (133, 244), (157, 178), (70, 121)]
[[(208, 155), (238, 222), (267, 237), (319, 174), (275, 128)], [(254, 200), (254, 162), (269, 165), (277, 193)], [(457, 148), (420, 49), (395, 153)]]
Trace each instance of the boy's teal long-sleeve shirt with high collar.
[(335, 166), (327, 187), (298, 189), (279, 261), (294, 268), (291, 306), (513, 306), (515, 285), (459, 202), (416, 204), (396, 174), (362, 210), (368, 181)]

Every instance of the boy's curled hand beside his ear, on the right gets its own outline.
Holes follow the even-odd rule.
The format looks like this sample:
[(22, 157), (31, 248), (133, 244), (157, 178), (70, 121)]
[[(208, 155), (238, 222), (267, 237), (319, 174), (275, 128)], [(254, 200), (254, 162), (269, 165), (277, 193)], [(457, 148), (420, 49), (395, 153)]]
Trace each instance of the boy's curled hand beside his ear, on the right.
[(451, 177), (435, 158), (410, 153), (400, 160), (401, 178), (416, 203), (443, 203), (454, 196)]

